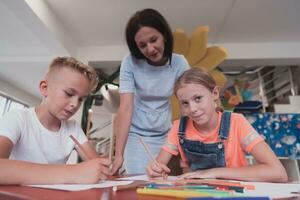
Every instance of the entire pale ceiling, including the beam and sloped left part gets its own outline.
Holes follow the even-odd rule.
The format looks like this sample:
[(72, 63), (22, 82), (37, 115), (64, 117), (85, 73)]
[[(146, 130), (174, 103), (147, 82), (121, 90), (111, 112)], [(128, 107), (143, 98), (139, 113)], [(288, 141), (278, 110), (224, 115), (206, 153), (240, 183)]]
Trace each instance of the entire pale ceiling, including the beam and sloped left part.
[(128, 53), (127, 20), (148, 7), (189, 35), (208, 25), (209, 45), (229, 52), (223, 67), (300, 63), (299, 0), (1, 0), (0, 80), (38, 98), (55, 56), (113, 67)]

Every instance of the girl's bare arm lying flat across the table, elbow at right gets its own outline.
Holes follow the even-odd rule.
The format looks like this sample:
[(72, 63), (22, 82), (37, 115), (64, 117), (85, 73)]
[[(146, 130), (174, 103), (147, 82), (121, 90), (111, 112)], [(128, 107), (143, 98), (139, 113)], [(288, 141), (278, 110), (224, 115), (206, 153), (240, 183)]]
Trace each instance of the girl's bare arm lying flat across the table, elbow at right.
[(286, 171), (265, 142), (251, 151), (256, 164), (239, 168), (213, 168), (182, 175), (182, 178), (223, 178), (244, 181), (287, 182)]

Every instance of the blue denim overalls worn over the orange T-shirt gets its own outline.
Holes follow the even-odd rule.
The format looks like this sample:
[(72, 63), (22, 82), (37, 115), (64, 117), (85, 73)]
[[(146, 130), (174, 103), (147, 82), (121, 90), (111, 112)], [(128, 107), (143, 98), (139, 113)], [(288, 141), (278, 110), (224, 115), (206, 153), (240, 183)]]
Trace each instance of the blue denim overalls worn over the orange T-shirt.
[(188, 117), (181, 117), (178, 132), (179, 142), (192, 171), (226, 166), (223, 141), (228, 136), (230, 116), (230, 112), (222, 113), (219, 141), (208, 144), (186, 139), (185, 128)]

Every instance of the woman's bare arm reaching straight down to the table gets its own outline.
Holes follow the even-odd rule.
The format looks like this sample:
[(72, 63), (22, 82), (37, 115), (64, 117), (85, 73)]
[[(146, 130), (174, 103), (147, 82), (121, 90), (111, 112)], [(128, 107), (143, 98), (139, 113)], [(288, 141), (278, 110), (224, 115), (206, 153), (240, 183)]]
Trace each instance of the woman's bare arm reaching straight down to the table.
[(120, 107), (117, 114), (116, 125), (116, 153), (111, 173), (115, 174), (123, 163), (123, 153), (128, 138), (133, 112), (133, 93), (120, 95)]

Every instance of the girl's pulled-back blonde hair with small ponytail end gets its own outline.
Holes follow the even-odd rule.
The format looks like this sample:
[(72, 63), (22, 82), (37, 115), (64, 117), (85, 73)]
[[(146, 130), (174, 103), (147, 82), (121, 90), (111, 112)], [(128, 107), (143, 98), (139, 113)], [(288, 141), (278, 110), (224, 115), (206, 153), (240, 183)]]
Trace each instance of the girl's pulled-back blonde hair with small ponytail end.
[[(177, 91), (185, 84), (199, 84), (206, 87), (209, 91), (218, 87), (213, 77), (203, 68), (191, 68), (185, 71), (176, 81), (174, 87), (174, 94), (177, 96)], [(216, 110), (223, 111), (221, 101), (218, 99), (216, 102)]]

